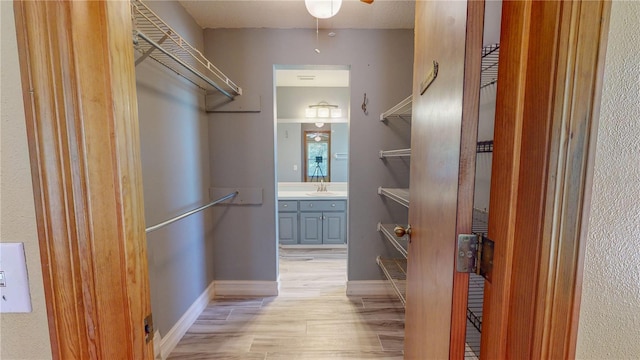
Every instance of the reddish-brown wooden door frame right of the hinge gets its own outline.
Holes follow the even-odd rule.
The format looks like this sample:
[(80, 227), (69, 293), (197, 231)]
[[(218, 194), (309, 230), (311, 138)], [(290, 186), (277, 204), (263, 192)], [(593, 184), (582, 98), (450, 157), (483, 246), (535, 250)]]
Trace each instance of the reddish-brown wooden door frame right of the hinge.
[(608, 1), (502, 10), (481, 358), (573, 358)]

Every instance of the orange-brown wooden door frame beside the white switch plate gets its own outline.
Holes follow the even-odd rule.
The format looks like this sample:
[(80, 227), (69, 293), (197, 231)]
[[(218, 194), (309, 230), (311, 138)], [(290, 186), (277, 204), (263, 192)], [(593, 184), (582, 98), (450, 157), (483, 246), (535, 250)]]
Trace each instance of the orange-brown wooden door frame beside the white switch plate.
[(129, 2), (14, 12), (52, 356), (152, 359)]

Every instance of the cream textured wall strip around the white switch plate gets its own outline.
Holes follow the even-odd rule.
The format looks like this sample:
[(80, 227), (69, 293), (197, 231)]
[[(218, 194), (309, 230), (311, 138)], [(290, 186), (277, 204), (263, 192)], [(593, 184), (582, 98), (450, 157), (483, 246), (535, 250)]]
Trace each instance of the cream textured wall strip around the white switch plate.
[(33, 308), (0, 315), (0, 359), (50, 359), (13, 2), (0, 1), (0, 27), (0, 241), (24, 243)]

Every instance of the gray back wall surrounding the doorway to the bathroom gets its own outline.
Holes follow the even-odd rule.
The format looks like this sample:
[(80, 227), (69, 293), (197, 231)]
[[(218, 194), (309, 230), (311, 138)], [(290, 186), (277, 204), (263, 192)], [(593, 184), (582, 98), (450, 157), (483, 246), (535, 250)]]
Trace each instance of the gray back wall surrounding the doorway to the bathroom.
[[(210, 114), (211, 180), (216, 187), (258, 187), (264, 202), (214, 210), (216, 279), (276, 280), (274, 65), (351, 67), (349, 139), (349, 280), (381, 279), (377, 255), (394, 255), (376, 231), (379, 220), (406, 210), (385, 204), (377, 187), (408, 186), (408, 161), (378, 158), (380, 149), (409, 146), (408, 124), (381, 123), (381, 112), (411, 93), (412, 30), (207, 29), (205, 54), (245, 93), (260, 96), (260, 113)], [(364, 93), (368, 115), (360, 109)], [(399, 215), (394, 215), (399, 214)]]

